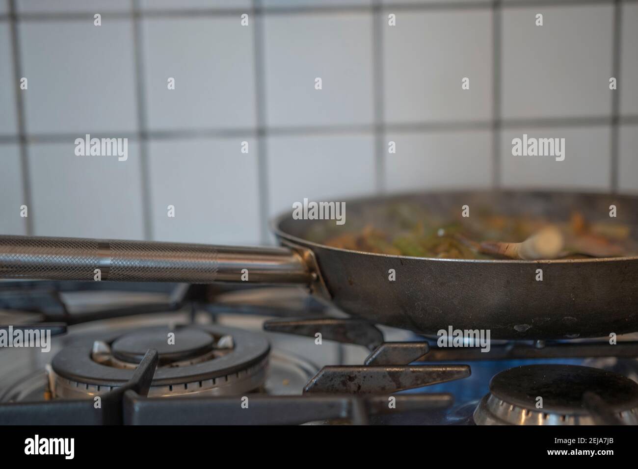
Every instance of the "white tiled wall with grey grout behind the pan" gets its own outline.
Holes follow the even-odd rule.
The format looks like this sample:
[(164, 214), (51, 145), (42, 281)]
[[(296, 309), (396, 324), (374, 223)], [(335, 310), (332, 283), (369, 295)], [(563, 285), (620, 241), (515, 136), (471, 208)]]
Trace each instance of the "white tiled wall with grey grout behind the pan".
[[(257, 244), (304, 197), (638, 193), (638, 2), (620, 2), (618, 91), (613, 1), (502, 4), (16, 0), (15, 43), (0, 0), (0, 232)], [(130, 137), (128, 161), (75, 156), (85, 133)], [(566, 160), (512, 156), (523, 133), (565, 138)]]

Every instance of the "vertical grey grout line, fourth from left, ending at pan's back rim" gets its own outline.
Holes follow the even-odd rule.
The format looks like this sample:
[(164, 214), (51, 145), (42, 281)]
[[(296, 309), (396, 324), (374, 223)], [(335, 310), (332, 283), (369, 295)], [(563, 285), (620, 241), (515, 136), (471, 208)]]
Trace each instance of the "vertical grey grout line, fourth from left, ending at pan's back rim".
[(385, 107), (383, 93), (383, 18), (382, 6), (378, 0), (373, 0), (372, 8), (372, 54), (373, 54), (373, 105), (375, 119), (375, 190), (385, 192)]

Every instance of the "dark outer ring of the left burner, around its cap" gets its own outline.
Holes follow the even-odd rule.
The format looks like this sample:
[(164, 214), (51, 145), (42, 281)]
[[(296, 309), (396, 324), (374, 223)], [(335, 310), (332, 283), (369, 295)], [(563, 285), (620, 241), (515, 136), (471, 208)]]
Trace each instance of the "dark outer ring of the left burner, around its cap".
[[(156, 369), (149, 395), (183, 395), (202, 391), (229, 394), (251, 391), (263, 384), (270, 345), (261, 334), (220, 325), (188, 328), (207, 332), (211, 336), (232, 336), (234, 348), (209, 361)], [(147, 327), (138, 331), (152, 334), (158, 331), (163, 334), (171, 332), (167, 327)], [(121, 331), (104, 341), (114, 344), (118, 339), (138, 331)], [(201, 344), (202, 341), (197, 343)], [(56, 394), (65, 391), (64, 397), (93, 396), (119, 387), (133, 376), (133, 369), (114, 368), (93, 361), (92, 346), (93, 340), (84, 340), (63, 348), (54, 357), (51, 367), (57, 381), (56, 388), (60, 385), (61, 391)]]

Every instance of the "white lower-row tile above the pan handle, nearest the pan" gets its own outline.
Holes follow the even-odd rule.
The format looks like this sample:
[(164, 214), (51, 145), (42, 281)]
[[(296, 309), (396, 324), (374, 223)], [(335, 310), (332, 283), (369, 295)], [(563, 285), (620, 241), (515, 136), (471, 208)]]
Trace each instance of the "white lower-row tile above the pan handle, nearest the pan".
[[(241, 153), (241, 142), (249, 153)], [(149, 145), (154, 239), (258, 244), (256, 141), (153, 140)], [(174, 205), (175, 217), (168, 217)]]

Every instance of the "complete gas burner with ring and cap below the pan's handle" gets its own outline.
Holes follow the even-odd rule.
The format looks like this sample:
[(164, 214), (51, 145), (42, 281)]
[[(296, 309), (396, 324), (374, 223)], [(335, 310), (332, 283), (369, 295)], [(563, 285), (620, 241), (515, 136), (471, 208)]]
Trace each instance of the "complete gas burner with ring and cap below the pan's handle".
[[(174, 341), (168, 342), (169, 332)], [(270, 346), (261, 335), (219, 325), (145, 327), (63, 348), (51, 363), (56, 398), (103, 394), (126, 383), (149, 348), (159, 352), (149, 396), (227, 396), (260, 389)]]

